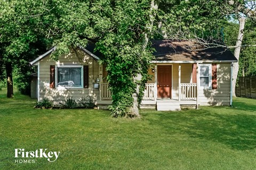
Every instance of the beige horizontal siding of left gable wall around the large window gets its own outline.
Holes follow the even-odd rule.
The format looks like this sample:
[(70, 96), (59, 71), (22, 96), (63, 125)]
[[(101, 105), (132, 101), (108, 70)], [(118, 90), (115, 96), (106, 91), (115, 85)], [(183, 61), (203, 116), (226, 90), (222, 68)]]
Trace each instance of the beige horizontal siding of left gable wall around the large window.
[[(78, 59), (79, 58), (79, 59)], [(99, 99), (99, 90), (93, 89), (93, 79), (99, 78), (99, 64), (87, 56), (82, 50), (71, 50), (67, 55), (61, 55), (59, 61), (51, 60), (50, 55), (39, 62), (40, 81), (39, 99), (44, 97), (54, 100), (55, 103), (63, 102), (67, 97), (81, 99), (90, 95), (94, 100)], [(56, 87), (50, 88), (50, 65), (89, 65), (89, 88)], [(83, 81), (83, 80), (82, 80)]]

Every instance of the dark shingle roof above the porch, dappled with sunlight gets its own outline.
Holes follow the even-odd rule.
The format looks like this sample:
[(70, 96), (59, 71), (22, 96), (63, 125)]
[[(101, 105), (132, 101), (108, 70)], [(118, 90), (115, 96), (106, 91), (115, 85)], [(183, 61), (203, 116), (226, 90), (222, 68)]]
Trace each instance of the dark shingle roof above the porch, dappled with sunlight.
[(233, 61), (236, 57), (226, 47), (206, 48), (185, 40), (151, 40), (156, 61)]

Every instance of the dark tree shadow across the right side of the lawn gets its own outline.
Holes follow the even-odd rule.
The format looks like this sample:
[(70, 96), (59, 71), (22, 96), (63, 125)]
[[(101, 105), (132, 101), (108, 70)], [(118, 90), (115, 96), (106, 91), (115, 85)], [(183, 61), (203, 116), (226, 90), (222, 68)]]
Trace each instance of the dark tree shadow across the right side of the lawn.
[[(243, 104), (243, 108), (247, 107)], [(161, 113), (149, 121), (163, 127), (165, 133), (185, 134), (191, 138), (222, 143), (231, 149), (256, 148), (256, 114), (231, 107), (204, 107), (199, 110)]]

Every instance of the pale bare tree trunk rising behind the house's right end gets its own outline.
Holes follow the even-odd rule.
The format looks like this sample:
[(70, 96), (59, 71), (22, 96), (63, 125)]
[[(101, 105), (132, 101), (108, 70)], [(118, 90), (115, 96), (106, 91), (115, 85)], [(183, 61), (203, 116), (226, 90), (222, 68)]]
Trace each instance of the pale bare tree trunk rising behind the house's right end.
[(235, 48), (235, 52), (234, 55), (237, 59), (237, 63), (233, 64), (233, 83), (232, 83), (232, 95), (234, 97), (236, 97), (236, 93), (235, 93), (235, 88), (236, 88), (236, 79), (237, 79), (237, 74), (238, 74), (238, 70), (239, 70), (239, 55), (240, 55), (240, 51), (241, 51), (241, 45), (242, 45), (242, 41), (243, 41), (243, 36), (244, 36), (244, 25), (245, 25), (245, 18), (239, 18), (239, 31), (238, 31), (238, 36), (237, 36), (237, 40), (236, 40), (236, 48)]

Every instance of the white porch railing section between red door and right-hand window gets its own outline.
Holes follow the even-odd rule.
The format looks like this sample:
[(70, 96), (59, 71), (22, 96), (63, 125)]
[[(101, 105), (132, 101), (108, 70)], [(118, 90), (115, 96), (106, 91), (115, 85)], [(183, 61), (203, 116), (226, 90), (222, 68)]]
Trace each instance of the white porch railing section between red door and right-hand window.
[(196, 100), (197, 88), (196, 83), (180, 83), (181, 100)]

